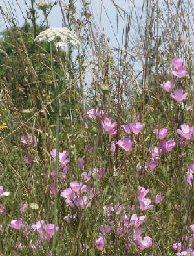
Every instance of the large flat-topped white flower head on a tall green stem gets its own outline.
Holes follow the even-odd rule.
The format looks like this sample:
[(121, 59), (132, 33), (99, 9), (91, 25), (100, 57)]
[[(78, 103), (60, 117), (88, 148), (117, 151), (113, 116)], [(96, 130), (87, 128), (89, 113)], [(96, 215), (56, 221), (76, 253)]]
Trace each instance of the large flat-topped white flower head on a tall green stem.
[(66, 42), (72, 45), (80, 44), (77, 36), (67, 29), (67, 27), (51, 27), (50, 29), (40, 32), (34, 40), (38, 42), (56, 41), (57, 47), (65, 47)]

